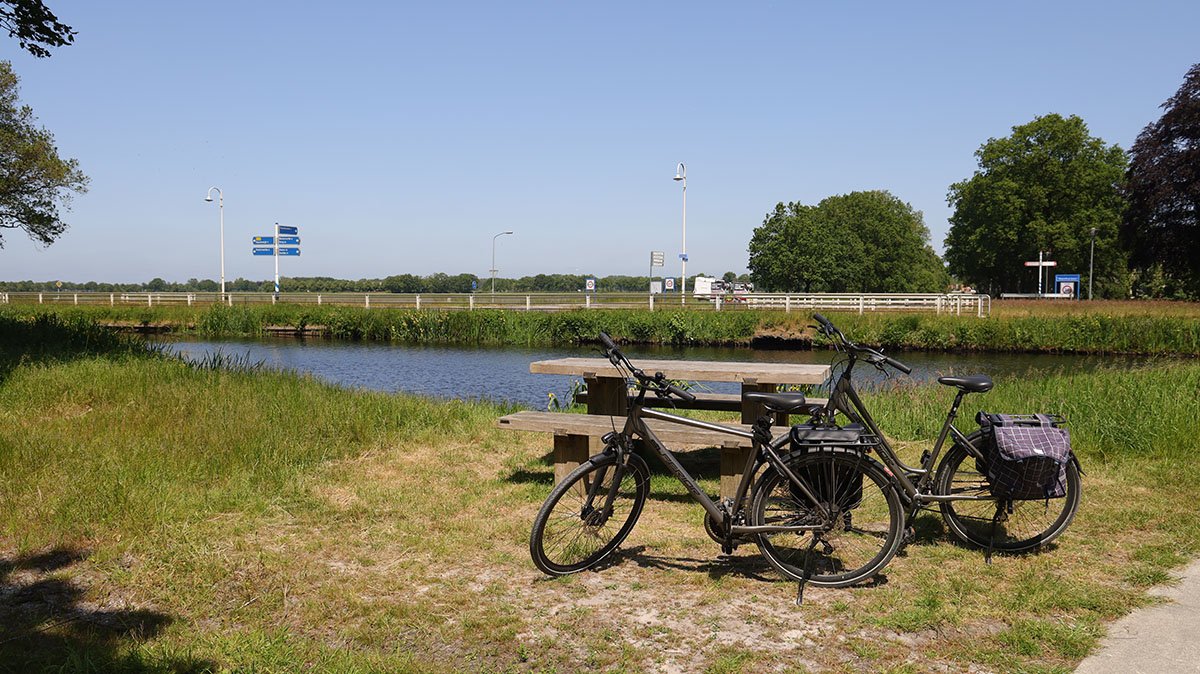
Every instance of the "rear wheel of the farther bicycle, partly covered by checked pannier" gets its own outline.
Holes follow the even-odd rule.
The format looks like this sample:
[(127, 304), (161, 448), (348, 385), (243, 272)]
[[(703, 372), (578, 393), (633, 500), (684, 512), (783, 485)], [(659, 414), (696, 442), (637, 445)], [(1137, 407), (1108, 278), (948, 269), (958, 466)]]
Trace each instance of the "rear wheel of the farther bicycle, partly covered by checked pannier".
[[(967, 435), (972, 443), (979, 432)], [(988, 476), (979, 473), (976, 458), (962, 445), (954, 444), (937, 465), (937, 479), (934, 493), (950, 494), (989, 494)], [(1020, 553), (1038, 548), (1054, 541), (1070, 525), (1082, 485), (1079, 480), (1079, 468), (1074, 461), (1067, 463), (1067, 494), (1058, 499), (1008, 501), (1012, 511), (1004, 507), (1001, 519), (996, 520), (998, 501), (942, 501), (940, 505), (946, 526), (962, 542)]]

